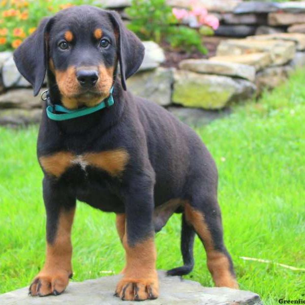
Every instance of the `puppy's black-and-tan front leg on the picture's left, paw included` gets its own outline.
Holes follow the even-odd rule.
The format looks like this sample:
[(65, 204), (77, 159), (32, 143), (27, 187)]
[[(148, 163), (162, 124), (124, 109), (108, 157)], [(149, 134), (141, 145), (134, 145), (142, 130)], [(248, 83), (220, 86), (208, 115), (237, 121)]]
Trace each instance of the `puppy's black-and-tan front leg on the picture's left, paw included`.
[(29, 287), (29, 294), (33, 296), (64, 292), (72, 276), (71, 228), (75, 198), (56, 188), (47, 178), (43, 181), (43, 195), (47, 214), (46, 260)]

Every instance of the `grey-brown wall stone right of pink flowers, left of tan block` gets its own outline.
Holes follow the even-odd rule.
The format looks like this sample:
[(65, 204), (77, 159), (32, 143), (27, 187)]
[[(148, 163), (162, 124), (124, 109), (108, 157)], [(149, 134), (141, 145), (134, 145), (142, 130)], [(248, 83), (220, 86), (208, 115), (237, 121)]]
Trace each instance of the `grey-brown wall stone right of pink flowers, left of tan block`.
[(225, 13), (222, 21), (226, 24), (267, 24), (266, 14), (233, 14)]

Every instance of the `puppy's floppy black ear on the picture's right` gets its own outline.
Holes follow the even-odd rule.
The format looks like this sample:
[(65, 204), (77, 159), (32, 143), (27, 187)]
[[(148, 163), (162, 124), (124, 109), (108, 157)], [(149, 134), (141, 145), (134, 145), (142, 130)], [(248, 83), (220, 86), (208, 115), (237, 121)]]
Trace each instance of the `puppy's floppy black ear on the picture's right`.
[(110, 20), (118, 35), (117, 50), (121, 82), (126, 90), (126, 79), (137, 72), (144, 58), (144, 45), (140, 39), (129, 31), (116, 12), (109, 12)]

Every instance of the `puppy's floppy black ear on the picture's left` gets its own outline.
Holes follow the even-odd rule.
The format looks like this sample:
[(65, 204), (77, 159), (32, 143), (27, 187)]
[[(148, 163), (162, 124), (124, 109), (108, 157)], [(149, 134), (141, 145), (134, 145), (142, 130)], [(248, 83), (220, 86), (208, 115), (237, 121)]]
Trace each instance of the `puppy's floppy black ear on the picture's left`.
[(51, 17), (44, 18), (37, 30), (15, 50), (14, 60), (17, 69), (32, 84), (37, 96), (43, 84), (47, 65), (47, 33)]

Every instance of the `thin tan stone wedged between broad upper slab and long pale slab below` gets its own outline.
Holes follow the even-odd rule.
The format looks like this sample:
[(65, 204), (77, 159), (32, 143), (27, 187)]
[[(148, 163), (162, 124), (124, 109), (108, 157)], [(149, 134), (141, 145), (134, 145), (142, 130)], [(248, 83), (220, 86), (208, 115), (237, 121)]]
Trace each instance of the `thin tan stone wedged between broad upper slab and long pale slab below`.
[(256, 71), (266, 68), (272, 64), (270, 53), (250, 53), (241, 55), (229, 55), (229, 56), (214, 56), (209, 60), (213, 62), (225, 62), (225, 63), (237, 63), (243, 65), (253, 66)]

